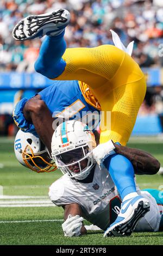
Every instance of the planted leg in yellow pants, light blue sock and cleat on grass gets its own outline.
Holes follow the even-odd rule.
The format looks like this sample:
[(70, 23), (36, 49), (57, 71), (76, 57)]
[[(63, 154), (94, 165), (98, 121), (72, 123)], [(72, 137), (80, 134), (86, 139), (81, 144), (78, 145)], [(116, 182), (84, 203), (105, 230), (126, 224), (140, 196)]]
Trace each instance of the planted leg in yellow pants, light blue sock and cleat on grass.
[[(115, 88), (108, 96), (102, 98), (102, 109), (105, 112), (103, 112), (101, 120), (101, 127), (103, 128), (101, 143), (112, 139), (114, 142), (126, 145), (145, 92), (146, 83), (142, 78), (140, 81)], [(110, 127), (108, 127), (108, 120), (106, 119), (107, 111), (111, 111)], [(120, 232), (119, 235), (123, 233), (129, 235), (137, 221), (149, 210), (149, 202), (137, 194), (134, 169), (126, 157), (115, 155), (107, 162), (106, 160), (105, 166), (122, 198), (122, 207), (117, 220), (105, 231), (105, 235), (118, 235), (118, 232)], [(130, 205), (130, 210), (123, 211), (125, 205)]]

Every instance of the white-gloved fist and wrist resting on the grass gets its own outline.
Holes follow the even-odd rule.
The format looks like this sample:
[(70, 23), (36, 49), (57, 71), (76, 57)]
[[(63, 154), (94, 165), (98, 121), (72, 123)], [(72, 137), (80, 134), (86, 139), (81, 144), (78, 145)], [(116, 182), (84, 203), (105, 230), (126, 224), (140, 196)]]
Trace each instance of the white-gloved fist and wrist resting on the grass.
[(64, 208), (64, 220), (62, 229), (65, 236), (79, 236), (86, 234), (83, 224), (83, 213), (79, 204), (72, 203), (62, 206)]

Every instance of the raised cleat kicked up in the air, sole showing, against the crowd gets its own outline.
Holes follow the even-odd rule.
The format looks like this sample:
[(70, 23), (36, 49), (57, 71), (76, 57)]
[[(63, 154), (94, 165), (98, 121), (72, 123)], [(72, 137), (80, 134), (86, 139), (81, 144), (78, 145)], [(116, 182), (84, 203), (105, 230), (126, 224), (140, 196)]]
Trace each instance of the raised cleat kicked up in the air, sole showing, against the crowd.
[(12, 36), (23, 41), (41, 38), (43, 35), (58, 35), (70, 22), (70, 13), (65, 9), (54, 10), (51, 13), (30, 15), (14, 27)]

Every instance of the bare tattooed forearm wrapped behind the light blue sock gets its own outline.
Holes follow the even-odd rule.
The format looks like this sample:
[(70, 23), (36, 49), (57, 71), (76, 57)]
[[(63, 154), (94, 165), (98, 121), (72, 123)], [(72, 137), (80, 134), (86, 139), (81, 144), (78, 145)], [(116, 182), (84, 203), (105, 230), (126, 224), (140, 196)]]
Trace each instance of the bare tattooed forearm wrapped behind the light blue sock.
[(115, 144), (115, 153), (126, 156), (133, 164), (135, 174), (156, 174), (160, 162), (154, 156), (140, 149), (133, 149)]

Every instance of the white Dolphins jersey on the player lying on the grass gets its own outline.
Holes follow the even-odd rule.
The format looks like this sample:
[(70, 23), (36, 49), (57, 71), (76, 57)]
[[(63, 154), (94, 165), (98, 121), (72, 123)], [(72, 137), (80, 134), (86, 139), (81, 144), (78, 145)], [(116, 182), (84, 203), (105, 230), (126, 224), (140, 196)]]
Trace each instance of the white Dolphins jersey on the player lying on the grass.
[(100, 170), (98, 164), (91, 183), (82, 183), (67, 174), (49, 188), (49, 197), (55, 205), (77, 203), (84, 218), (105, 230), (114, 222), (121, 199), (107, 169)]

